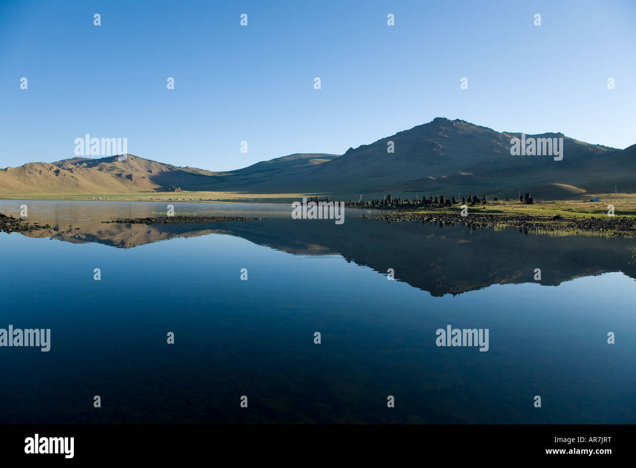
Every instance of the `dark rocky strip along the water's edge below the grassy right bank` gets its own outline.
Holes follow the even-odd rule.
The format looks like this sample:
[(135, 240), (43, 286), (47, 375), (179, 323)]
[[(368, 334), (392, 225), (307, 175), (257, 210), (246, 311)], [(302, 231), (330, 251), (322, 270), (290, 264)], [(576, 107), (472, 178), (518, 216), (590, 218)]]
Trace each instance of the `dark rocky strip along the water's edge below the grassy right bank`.
[(471, 229), (518, 229), (522, 232), (553, 232), (569, 234), (579, 230), (593, 234), (636, 237), (636, 219), (607, 216), (605, 218), (563, 218), (562, 216), (491, 215), (469, 214), (461, 216), (451, 213), (378, 213), (377, 215), (354, 216), (366, 220), (386, 222), (421, 222), (436, 225), (464, 225)]

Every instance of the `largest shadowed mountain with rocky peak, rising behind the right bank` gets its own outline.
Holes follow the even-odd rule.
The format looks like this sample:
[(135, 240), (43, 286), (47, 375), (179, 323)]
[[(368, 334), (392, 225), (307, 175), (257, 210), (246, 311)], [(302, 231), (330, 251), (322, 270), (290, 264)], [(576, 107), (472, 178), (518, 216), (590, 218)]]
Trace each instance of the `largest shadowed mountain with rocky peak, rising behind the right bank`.
[[(527, 135), (527, 138), (563, 138), (563, 160), (551, 156), (513, 156), (511, 139), (520, 133), (495, 132), (464, 120), (436, 118), (429, 124), (382, 138), (349, 150), (318, 167), (286, 171), (272, 184), (250, 181), (254, 192), (303, 192), (370, 197), (413, 197), (455, 194), (516, 197), (518, 189), (544, 198), (573, 194), (636, 190), (633, 146), (616, 150), (590, 145), (561, 133)], [(393, 142), (394, 153), (387, 152)], [(217, 187), (228, 190), (223, 180)], [(235, 187), (239, 187), (236, 186)]]

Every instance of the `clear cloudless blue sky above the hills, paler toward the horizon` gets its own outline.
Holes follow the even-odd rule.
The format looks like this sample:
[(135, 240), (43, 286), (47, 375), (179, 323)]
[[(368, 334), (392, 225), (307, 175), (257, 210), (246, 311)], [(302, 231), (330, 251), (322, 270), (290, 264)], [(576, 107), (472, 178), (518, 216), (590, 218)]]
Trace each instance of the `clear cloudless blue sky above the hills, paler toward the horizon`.
[(434, 117), (625, 148), (635, 113), (634, 0), (0, 0), (0, 167), (88, 133), (238, 169)]

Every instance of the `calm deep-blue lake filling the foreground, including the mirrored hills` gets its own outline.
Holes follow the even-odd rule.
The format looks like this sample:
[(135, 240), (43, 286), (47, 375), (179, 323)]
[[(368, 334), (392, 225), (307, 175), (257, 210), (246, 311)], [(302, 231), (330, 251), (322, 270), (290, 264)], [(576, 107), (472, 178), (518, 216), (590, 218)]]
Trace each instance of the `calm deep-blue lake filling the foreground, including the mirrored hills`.
[[(261, 220), (102, 223), (169, 203)], [(52, 229), (0, 232), (0, 329), (50, 329), (50, 351), (0, 347), (0, 423), (636, 423), (634, 239), (259, 204), (0, 213), (21, 204)], [(437, 346), (447, 325), (488, 350)]]

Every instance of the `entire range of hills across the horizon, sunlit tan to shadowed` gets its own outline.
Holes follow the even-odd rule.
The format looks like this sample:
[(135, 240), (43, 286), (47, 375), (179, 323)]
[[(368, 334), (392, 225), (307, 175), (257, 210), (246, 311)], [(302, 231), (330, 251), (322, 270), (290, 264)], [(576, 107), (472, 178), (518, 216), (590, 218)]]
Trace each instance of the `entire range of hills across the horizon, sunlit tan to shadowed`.
[[(343, 155), (297, 153), (235, 171), (214, 172), (127, 155), (75, 157), (0, 169), (1, 195), (133, 194), (186, 191), (235, 194), (310, 194), (382, 198), (463, 194), (563, 199), (636, 192), (636, 145), (617, 150), (562, 133), (526, 138), (562, 139), (563, 159), (511, 155), (517, 132), (496, 132), (464, 120), (438, 117)], [(387, 152), (392, 142), (394, 152)]]

